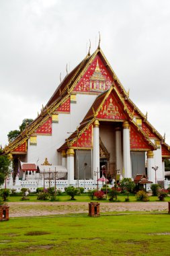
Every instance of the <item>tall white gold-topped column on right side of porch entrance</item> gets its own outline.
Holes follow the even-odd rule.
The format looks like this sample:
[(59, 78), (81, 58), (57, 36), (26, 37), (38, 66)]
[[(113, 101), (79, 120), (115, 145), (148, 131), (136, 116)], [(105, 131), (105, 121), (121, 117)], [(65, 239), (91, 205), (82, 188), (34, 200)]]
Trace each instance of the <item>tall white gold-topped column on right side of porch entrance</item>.
[(132, 169), (130, 163), (130, 132), (129, 123), (123, 123), (123, 158), (124, 158), (124, 178), (132, 178)]

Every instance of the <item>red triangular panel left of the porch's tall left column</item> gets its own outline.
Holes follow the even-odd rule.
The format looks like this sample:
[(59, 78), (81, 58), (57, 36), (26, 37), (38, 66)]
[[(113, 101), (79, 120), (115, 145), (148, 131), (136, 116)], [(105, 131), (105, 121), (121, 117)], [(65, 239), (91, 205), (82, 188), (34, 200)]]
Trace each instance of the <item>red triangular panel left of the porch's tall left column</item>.
[(87, 128), (85, 130), (84, 133), (82, 133), (82, 135), (79, 137), (78, 141), (75, 141), (75, 143), (73, 143), (72, 147), (74, 148), (91, 148), (92, 147), (92, 131), (93, 131), (93, 127), (92, 125), (89, 126), (89, 128)]

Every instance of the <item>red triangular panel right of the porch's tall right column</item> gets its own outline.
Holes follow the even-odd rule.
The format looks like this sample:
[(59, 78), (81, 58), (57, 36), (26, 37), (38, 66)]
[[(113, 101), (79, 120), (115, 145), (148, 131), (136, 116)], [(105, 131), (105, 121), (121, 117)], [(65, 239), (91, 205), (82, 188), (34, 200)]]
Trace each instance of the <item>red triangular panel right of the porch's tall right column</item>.
[(132, 126), (130, 126), (130, 150), (149, 149), (151, 146), (144, 141), (142, 135), (138, 133)]

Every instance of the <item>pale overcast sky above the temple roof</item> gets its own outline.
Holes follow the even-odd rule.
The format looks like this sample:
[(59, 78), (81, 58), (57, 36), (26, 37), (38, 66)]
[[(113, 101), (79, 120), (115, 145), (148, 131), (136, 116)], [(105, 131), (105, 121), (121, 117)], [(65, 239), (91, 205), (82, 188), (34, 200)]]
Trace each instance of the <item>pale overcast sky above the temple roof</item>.
[(170, 144), (169, 0), (0, 0), (0, 144), (36, 118), (62, 78), (101, 49)]

